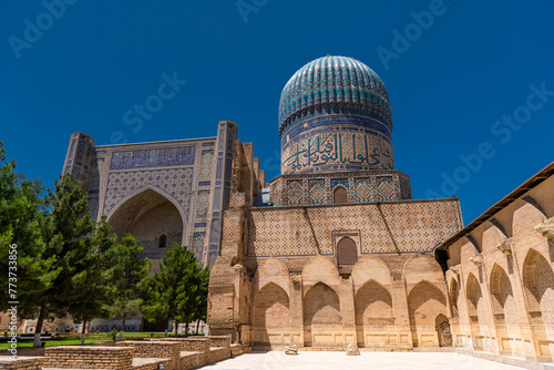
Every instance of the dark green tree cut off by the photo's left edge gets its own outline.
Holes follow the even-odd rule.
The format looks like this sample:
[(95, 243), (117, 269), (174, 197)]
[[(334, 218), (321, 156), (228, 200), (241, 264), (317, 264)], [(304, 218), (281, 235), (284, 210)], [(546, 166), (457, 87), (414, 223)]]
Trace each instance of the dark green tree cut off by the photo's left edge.
[(9, 298), (0, 301), (0, 310), (18, 301), (18, 316), (33, 317), (38, 297), (58, 275), (57, 257), (47, 253), (42, 234), (49, 198), (41, 182), (17, 173), (16, 161), (7, 162), (4, 153), (0, 142), (0, 296)]

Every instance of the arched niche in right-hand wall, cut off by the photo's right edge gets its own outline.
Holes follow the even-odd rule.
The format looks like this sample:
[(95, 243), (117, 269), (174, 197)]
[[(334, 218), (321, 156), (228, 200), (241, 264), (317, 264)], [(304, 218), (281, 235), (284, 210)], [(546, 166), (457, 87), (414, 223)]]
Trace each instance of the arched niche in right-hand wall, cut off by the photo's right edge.
[(523, 263), (523, 286), (531, 321), (554, 325), (554, 273), (540, 253), (530, 249)]

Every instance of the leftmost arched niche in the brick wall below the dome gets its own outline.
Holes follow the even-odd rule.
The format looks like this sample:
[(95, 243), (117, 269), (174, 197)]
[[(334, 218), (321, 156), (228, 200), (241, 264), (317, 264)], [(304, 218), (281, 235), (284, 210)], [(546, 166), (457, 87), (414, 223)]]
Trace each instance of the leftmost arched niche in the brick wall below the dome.
[(283, 343), (283, 336), (290, 328), (288, 295), (281, 287), (269, 282), (254, 298), (254, 342)]

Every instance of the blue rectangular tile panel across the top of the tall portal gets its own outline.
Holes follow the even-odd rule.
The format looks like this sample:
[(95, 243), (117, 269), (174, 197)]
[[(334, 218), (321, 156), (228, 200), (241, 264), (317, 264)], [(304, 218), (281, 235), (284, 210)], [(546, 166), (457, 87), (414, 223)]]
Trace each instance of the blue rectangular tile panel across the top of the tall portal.
[(110, 169), (186, 166), (194, 164), (194, 146), (112, 153)]

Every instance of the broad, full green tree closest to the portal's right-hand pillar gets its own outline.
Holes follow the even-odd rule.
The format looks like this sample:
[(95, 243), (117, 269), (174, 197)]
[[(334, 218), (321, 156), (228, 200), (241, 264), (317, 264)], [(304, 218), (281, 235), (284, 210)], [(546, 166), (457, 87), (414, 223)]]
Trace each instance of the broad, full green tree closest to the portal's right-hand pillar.
[(148, 287), (144, 317), (151, 321), (173, 320), (175, 336), (179, 322), (188, 329), (188, 322), (205, 312), (208, 276), (208, 269), (197, 263), (192, 250), (173, 245)]

